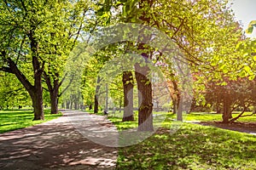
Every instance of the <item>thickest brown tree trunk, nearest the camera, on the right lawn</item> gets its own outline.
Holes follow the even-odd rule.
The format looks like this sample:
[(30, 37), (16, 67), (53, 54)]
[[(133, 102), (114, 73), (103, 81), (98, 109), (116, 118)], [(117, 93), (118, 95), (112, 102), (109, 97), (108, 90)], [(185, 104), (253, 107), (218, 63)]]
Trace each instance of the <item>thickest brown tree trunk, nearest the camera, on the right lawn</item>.
[(137, 89), (142, 94), (141, 105), (138, 110), (138, 131), (154, 131), (152, 84), (148, 79), (148, 66), (135, 65)]

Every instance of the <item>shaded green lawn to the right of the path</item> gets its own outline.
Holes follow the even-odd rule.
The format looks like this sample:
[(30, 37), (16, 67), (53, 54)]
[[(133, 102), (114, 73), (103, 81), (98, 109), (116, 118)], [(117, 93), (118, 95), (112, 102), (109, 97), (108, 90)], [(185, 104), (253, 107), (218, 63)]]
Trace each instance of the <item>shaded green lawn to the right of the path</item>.
[[(117, 169), (255, 169), (256, 138), (247, 133), (183, 123), (176, 133), (167, 116), (162, 127), (140, 144), (119, 148)], [(220, 115), (191, 114), (188, 120), (218, 121)], [(119, 130), (137, 127), (109, 116)], [(245, 122), (255, 121), (255, 116)]]

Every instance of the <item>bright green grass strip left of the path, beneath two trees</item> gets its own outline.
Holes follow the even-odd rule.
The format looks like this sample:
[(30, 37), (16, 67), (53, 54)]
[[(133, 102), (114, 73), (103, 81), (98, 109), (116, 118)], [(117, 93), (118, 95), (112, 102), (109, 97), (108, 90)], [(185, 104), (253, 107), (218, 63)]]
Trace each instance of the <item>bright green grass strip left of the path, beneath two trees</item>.
[(0, 111), (0, 133), (15, 129), (31, 127), (33, 125), (55, 119), (62, 114), (51, 115), (49, 110), (44, 111), (44, 121), (32, 121), (32, 111)]

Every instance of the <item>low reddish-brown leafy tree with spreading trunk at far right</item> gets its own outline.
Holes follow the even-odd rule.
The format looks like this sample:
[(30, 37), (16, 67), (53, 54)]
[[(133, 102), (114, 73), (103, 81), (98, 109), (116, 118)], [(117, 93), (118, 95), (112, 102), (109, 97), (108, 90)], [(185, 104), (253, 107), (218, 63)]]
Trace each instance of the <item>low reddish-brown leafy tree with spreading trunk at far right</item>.
[[(255, 105), (255, 82), (248, 78), (238, 78), (236, 81), (226, 81), (226, 85), (220, 82), (207, 83), (207, 104), (217, 105), (223, 114), (223, 122), (235, 122), (252, 105)], [(232, 112), (241, 110), (241, 114), (232, 117)]]

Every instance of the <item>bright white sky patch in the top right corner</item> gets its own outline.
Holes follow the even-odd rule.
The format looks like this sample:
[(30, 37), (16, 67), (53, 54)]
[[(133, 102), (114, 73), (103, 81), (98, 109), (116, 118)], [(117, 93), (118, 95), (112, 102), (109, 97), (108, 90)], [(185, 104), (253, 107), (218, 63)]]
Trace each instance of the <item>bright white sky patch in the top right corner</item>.
[[(241, 21), (243, 29), (246, 30), (251, 20), (256, 20), (256, 0), (230, 0), (231, 8), (234, 10), (236, 20)], [(256, 37), (256, 28), (252, 35), (247, 37)]]

